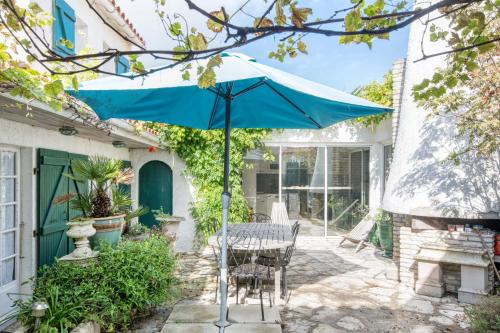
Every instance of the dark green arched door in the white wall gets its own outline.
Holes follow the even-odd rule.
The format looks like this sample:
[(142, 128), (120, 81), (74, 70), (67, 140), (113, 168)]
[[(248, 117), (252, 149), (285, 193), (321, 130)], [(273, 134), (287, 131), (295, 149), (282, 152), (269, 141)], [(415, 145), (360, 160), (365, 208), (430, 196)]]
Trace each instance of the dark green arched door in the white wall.
[(172, 169), (160, 161), (151, 161), (139, 170), (139, 205), (150, 211), (139, 218), (139, 222), (152, 227), (158, 223), (151, 210), (160, 209), (172, 214)]

